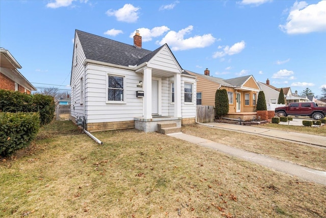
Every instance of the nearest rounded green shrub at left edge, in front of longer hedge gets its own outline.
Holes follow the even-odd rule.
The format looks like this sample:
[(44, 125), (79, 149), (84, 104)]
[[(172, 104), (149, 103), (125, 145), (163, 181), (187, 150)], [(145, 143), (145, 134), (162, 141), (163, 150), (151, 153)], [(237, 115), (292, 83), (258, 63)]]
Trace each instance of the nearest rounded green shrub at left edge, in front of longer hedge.
[(40, 128), (39, 113), (0, 112), (0, 156), (26, 148)]

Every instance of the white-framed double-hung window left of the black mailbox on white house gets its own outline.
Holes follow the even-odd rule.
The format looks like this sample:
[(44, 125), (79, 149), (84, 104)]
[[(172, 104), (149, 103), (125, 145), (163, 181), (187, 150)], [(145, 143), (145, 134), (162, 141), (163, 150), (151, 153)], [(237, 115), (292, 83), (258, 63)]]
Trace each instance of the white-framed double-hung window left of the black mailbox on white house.
[(108, 75), (107, 100), (124, 101), (124, 77)]

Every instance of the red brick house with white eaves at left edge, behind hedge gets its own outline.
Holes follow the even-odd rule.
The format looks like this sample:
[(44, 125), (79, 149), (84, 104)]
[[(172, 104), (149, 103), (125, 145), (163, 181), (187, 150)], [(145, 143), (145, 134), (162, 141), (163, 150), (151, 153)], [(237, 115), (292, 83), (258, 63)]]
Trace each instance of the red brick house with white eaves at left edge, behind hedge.
[(31, 94), (37, 89), (28, 81), (18, 69), (20, 64), (8, 50), (0, 48), (0, 89), (19, 91)]

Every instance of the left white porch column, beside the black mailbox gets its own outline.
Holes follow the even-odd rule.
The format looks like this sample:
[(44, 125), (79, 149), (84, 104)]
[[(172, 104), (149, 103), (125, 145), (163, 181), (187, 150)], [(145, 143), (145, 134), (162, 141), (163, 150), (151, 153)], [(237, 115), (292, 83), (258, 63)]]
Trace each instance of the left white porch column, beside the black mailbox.
[(152, 69), (144, 68), (144, 81), (143, 81), (143, 90), (144, 90), (144, 118), (151, 119), (152, 117)]

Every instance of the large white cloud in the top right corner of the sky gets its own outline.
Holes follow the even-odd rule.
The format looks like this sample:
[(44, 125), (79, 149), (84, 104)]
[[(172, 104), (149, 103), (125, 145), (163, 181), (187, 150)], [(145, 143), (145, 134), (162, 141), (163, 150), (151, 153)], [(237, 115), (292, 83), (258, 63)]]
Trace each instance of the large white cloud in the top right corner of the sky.
[(326, 1), (308, 5), (295, 2), (285, 25), (279, 25), (287, 34), (300, 34), (326, 31)]

